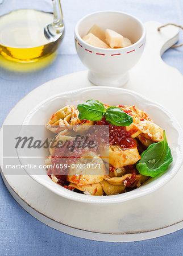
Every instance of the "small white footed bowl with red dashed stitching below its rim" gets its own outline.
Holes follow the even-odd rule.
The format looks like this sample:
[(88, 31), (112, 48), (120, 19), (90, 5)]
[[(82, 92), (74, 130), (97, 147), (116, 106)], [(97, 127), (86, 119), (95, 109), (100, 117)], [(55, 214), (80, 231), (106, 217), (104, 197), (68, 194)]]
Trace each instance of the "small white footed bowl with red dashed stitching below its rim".
[[(94, 25), (110, 28), (129, 38), (132, 46), (102, 49), (85, 43), (82, 37)], [(89, 80), (95, 85), (122, 86), (128, 70), (140, 59), (145, 44), (145, 27), (134, 16), (119, 11), (99, 11), (80, 19), (75, 28), (75, 46), (82, 63), (89, 69)]]

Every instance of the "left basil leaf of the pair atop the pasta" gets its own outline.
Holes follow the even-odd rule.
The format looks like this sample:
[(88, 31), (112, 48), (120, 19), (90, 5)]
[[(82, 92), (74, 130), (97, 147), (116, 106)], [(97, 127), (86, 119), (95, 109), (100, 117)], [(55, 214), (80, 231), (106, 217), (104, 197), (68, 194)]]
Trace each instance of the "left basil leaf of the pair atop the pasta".
[(80, 120), (100, 121), (106, 112), (104, 105), (96, 100), (88, 100), (84, 104), (79, 104), (77, 109), (80, 112)]

